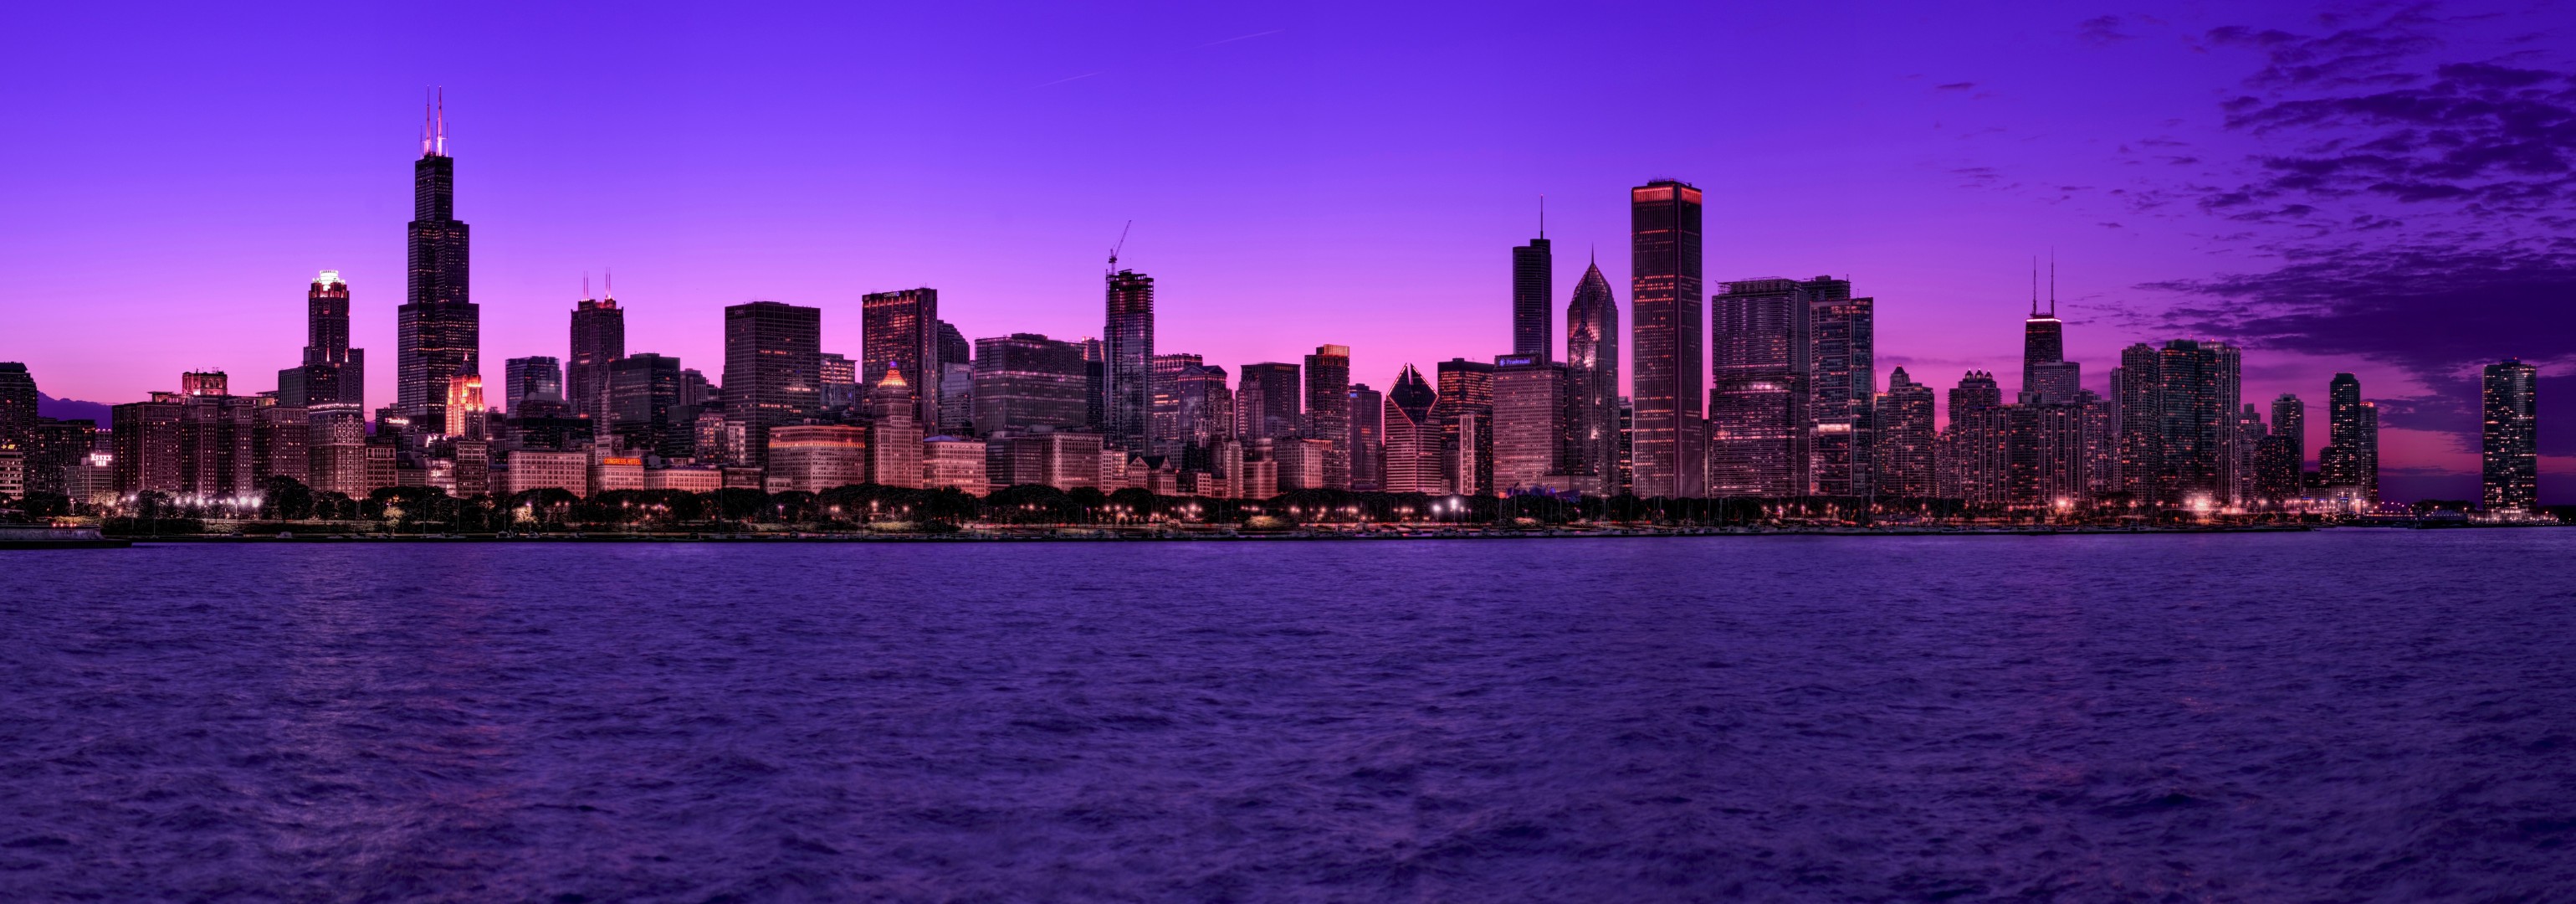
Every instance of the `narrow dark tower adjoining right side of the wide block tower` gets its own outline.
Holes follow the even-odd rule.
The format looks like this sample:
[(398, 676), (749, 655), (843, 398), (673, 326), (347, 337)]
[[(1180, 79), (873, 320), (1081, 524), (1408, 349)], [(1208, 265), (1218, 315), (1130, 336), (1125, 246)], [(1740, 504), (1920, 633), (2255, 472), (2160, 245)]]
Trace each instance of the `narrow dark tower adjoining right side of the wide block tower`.
[[(1819, 286), (1821, 283), (1821, 286)], [(1875, 301), (1816, 278), (1806, 309), (1808, 492), (1870, 494), (1870, 394), (1878, 389)]]

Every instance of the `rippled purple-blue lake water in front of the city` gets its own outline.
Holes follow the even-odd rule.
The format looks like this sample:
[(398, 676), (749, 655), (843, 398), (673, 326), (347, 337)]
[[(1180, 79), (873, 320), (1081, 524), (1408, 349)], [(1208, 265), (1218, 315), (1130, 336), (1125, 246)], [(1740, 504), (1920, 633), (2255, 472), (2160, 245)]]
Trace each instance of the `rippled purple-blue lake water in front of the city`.
[(0, 899), (2566, 899), (2571, 554), (0, 554)]

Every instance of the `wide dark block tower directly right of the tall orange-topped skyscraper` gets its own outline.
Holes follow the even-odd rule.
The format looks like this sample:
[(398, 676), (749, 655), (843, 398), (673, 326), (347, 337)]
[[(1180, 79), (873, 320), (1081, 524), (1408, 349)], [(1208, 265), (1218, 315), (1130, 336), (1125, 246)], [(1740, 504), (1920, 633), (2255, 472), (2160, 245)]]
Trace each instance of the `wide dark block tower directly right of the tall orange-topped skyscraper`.
[(1850, 296), (1837, 278), (1739, 278), (1708, 299), (1708, 494), (1808, 492), (1808, 306)]

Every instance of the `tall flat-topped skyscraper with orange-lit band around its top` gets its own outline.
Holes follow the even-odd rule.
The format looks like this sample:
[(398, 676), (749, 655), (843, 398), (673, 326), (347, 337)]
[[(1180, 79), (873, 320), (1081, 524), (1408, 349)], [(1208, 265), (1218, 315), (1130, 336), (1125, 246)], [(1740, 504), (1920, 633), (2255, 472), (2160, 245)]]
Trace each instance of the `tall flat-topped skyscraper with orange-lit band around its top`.
[(1698, 497), (1700, 391), (1700, 191), (1651, 180), (1628, 191), (1628, 317), (1636, 379), (1638, 497)]

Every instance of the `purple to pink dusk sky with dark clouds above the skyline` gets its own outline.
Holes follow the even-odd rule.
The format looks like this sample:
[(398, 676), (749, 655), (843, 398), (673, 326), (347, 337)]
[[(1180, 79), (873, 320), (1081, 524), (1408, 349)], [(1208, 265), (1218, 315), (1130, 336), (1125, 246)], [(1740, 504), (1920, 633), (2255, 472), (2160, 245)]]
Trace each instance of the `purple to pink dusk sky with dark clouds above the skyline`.
[[(2383, 399), (2391, 497), (2476, 494), (2476, 366), (2543, 366), (2543, 494), (2576, 500), (2576, 80), (2548, 5), (1870, 3), (714, 5), (15, 13), (0, 77), (0, 361), (129, 402), (296, 361), (355, 296), (392, 397), (422, 85), (474, 224), (484, 371), (564, 355), (613, 268), (629, 350), (721, 371), (726, 304), (938, 286), (969, 337), (1097, 335), (1100, 268), (1159, 350), (1352, 376), (1510, 345), (1510, 245), (1548, 196), (1628, 304), (1625, 188), (1708, 191), (1708, 278), (1850, 276), (1880, 381), (2020, 381), (2030, 258), (2069, 355), (2251, 345), (2246, 399), (2334, 371)], [(1628, 345), (1628, 343), (1623, 343)]]

